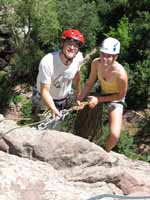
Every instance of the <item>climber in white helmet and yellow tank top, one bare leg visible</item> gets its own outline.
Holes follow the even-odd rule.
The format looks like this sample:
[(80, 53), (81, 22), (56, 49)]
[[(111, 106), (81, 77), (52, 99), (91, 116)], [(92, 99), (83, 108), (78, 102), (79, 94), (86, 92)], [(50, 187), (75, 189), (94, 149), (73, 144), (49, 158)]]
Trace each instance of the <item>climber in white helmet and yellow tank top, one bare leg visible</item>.
[(105, 39), (100, 47), (100, 52), (100, 57), (92, 62), (89, 79), (78, 98), (78, 104), (82, 104), (81, 101), (88, 95), (98, 79), (102, 93), (97, 97), (89, 96), (89, 107), (94, 108), (99, 103), (108, 105), (110, 130), (105, 149), (109, 152), (120, 137), (128, 76), (123, 66), (117, 62), (120, 53), (120, 42), (117, 39), (112, 37)]

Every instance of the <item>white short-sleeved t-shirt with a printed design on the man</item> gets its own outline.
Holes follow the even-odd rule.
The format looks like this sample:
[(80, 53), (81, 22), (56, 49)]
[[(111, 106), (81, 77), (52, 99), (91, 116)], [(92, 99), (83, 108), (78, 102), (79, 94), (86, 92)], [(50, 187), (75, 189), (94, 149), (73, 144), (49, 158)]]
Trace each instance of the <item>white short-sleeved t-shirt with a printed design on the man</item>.
[(72, 80), (80, 70), (83, 55), (78, 52), (73, 62), (66, 66), (62, 63), (59, 51), (45, 55), (39, 64), (37, 89), (40, 92), (40, 83), (50, 84), (50, 95), (53, 99), (65, 98), (71, 91)]

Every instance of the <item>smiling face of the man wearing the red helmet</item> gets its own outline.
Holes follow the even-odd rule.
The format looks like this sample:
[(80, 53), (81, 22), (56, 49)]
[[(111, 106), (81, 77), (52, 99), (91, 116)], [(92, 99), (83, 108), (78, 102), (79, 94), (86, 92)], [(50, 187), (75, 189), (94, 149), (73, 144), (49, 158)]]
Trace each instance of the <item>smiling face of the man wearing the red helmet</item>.
[(65, 40), (63, 45), (63, 52), (69, 59), (75, 57), (79, 50), (79, 42), (75, 40)]

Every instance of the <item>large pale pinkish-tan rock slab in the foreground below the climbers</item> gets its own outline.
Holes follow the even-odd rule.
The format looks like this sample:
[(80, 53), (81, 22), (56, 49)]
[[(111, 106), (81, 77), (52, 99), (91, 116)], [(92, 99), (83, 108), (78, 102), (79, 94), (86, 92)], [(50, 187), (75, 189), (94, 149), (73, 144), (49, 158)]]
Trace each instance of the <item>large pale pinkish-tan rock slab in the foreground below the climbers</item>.
[[(87, 200), (100, 194), (150, 196), (150, 164), (71, 133), (0, 119), (1, 200)], [(108, 198), (103, 198), (108, 200)]]

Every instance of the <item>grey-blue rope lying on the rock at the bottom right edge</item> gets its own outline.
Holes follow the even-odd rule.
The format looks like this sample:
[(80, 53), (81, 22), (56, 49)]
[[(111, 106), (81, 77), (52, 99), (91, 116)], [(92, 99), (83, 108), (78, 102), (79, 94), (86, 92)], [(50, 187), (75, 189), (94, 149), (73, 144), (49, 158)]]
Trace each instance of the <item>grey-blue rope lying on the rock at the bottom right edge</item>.
[(124, 196), (124, 195), (115, 195), (115, 194), (101, 194), (95, 197), (91, 197), (87, 200), (98, 200), (98, 199), (103, 199), (105, 197), (108, 198), (119, 198), (119, 199), (148, 199), (150, 200), (150, 196)]

